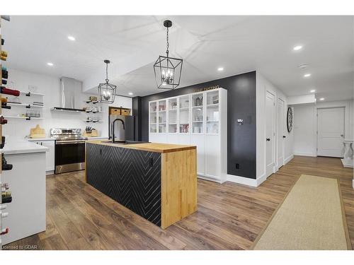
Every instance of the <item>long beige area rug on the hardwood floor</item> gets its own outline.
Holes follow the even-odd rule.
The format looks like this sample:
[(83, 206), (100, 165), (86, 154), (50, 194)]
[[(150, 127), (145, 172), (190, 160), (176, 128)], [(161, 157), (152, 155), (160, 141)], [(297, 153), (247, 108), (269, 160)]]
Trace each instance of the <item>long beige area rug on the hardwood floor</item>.
[(253, 249), (351, 249), (339, 180), (301, 175)]

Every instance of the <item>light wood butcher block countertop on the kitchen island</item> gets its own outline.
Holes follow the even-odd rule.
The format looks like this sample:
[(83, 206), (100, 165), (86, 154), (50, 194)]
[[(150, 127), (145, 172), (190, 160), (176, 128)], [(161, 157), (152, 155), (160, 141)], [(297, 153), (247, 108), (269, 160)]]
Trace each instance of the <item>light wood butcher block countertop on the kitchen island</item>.
[(118, 144), (118, 143), (105, 143), (108, 140), (93, 140), (86, 141), (86, 143), (101, 144), (103, 146), (117, 146), (120, 148), (130, 148), (148, 152), (156, 153), (171, 153), (178, 151), (186, 151), (196, 149), (196, 146), (184, 146), (181, 144), (171, 144), (171, 143), (134, 143), (134, 144)]

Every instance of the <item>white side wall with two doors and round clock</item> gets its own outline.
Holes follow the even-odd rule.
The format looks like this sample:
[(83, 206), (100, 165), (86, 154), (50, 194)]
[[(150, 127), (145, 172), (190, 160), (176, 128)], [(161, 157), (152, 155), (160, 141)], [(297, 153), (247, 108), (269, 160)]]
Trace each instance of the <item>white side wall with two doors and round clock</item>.
[[(279, 88), (276, 88), (272, 83), (270, 83), (261, 73), (256, 71), (256, 178), (258, 184), (265, 180), (265, 92), (269, 91), (275, 95), (275, 137), (278, 139), (278, 98), (285, 102), (284, 107), (284, 119), (287, 113), (287, 97), (282, 93)], [(290, 161), (293, 157), (293, 131), (290, 133), (286, 129), (286, 119), (283, 128), (285, 138), (285, 163)], [(278, 169), (277, 157), (278, 157), (278, 141), (275, 141), (275, 170)]]

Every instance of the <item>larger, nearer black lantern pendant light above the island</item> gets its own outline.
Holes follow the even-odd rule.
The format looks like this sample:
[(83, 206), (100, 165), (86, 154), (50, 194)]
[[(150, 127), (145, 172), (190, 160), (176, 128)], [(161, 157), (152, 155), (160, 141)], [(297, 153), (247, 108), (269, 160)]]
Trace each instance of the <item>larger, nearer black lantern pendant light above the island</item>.
[(169, 57), (169, 28), (172, 26), (171, 20), (165, 20), (164, 26), (167, 28), (166, 57), (160, 55), (154, 64), (156, 86), (161, 89), (175, 89), (181, 81), (183, 59)]

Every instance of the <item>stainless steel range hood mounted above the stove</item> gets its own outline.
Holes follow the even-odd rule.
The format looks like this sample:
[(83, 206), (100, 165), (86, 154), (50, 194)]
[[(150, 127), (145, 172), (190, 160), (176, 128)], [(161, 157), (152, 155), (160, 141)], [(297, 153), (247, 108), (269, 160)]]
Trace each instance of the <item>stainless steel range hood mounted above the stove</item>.
[(64, 76), (60, 78), (59, 107), (54, 107), (52, 110), (84, 112), (84, 110), (75, 107), (76, 98), (79, 98), (81, 90), (82, 83), (80, 81)]

